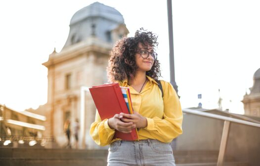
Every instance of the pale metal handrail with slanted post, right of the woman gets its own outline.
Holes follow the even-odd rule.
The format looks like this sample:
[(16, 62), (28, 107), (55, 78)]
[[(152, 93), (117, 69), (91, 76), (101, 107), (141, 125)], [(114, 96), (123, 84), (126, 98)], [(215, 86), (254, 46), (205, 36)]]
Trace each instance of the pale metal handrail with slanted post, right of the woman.
[(197, 111), (197, 110), (192, 110), (192, 109), (182, 109), (184, 113), (188, 114), (194, 114), (194, 115), (199, 115), (199, 116), (204, 116), (204, 117), (209, 117), (209, 118), (214, 118), (214, 119), (219, 119), (224, 121), (224, 126), (222, 130), (222, 137), (221, 137), (221, 142), (220, 142), (220, 148), (219, 148), (219, 153), (218, 153), (218, 159), (217, 159), (217, 166), (223, 166), (223, 159), (225, 155), (225, 150), (226, 150), (226, 143), (227, 143), (227, 137), (229, 133), (229, 126), (230, 123), (238, 123), (238, 124), (246, 124), (246, 125), (251, 125), (251, 126), (256, 126), (260, 127), (260, 124), (253, 123), (253, 122), (247, 122), (243, 120), (238, 120), (235, 118), (229, 118), (229, 117), (224, 117), (221, 115), (215, 115), (211, 113), (206, 113), (202, 111)]

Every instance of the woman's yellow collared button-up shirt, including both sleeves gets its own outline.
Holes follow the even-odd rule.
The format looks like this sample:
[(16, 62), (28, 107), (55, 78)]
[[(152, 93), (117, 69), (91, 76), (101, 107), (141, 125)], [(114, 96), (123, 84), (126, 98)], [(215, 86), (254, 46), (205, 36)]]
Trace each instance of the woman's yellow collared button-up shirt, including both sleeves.
[[(139, 93), (128, 85), (127, 80), (119, 82), (120, 86), (130, 87), (133, 110), (147, 119), (147, 127), (138, 130), (139, 140), (157, 139), (161, 142), (171, 142), (173, 138), (182, 133), (182, 110), (178, 95), (173, 86), (161, 81), (164, 97), (156, 81), (148, 76), (149, 80)], [(100, 146), (108, 145), (113, 139), (115, 129), (108, 125), (108, 119), (101, 121), (96, 112), (95, 122), (90, 126), (92, 139)]]

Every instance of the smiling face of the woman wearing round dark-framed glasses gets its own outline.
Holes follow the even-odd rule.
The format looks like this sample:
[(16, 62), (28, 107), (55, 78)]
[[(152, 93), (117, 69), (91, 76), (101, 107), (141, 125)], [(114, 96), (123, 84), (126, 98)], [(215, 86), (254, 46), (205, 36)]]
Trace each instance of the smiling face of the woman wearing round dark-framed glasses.
[[(138, 71), (147, 72), (151, 70), (154, 63), (154, 57), (151, 55), (151, 52), (153, 52), (153, 47), (151, 45), (145, 46), (142, 43), (138, 44), (138, 49), (135, 53), (135, 63), (138, 67)], [(142, 56), (141, 53), (143, 54)], [(147, 54), (146, 56), (145, 53)]]

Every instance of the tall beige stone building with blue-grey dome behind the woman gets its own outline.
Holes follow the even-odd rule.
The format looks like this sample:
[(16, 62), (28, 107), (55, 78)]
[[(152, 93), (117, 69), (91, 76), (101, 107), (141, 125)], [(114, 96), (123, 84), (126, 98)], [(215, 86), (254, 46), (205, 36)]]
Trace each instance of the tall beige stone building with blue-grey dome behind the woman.
[(66, 119), (72, 122), (73, 144), (73, 122), (79, 119), (84, 120), (81, 130), (86, 131), (84, 136), (80, 135), (85, 137), (81, 147), (95, 148), (88, 133), (96, 109), (86, 93), (85, 117), (80, 117), (81, 87), (107, 82), (109, 52), (113, 44), (128, 33), (119, 11), (99, 2), (92, 3), (73, 15), (64, 47), (60, 52), (54, 49), (43, 63), (48, 69), (47, 103), (41, 107), (46, 116), (44, 135), (53, 136), (58, 146), (64, 146), (67, 141), (63, 131)]

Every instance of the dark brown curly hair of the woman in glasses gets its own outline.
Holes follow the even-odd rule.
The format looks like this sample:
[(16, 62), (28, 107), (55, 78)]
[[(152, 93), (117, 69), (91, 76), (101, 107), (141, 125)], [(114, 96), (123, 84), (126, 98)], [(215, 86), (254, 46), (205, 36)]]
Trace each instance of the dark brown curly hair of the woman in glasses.
[[(107, 77), (109, 82), (118, 82), (125, 79), (132, 79), (135, 76), (137, 65), (135, 62), (135, 53), (138, 49), (138, 44), (142, 43), (145, 47), (148, 45), (157, 47), (158, 36), (147, 30), (137, 30), (134, 37), (123, 38), (119, 40), (111, 51), (107, 67)], [(146, 75), (158, 80), (161, 76), (160, 63), (154, 59), (154, 64), (151, 70), (146, 72)]]

